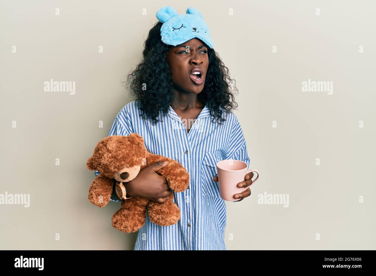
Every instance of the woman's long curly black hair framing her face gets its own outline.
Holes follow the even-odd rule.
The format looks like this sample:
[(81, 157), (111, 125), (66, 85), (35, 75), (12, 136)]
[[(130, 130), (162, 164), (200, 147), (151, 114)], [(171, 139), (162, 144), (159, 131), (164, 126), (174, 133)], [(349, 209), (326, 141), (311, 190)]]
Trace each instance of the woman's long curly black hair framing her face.
[[(174, 84), (167, 62), (168, 51), (174, 46), (162, 42), (161, 26), (162, 23), (158, 21), (150, 29), (144, 42), (143, 60), (127, 75), (127, 80), (122, 81), (130, 96), (139, 101), (141, 116), (150, 119), (152, 124), (159, 122), (159, 112), (167, 115), (174, 100)], [(224, 66), (218, 54), (212, 48), (207, 48), (208, 71), (204, 88), (197, 97), (208, 106), (210, 114), (221, 124), (226, 121), (222, 118), (222, 113), (230, 112), (238, 106), (233, 94), (238, 89), (235, 83), (232, 86), (235, 80), (230, 78), (229, 69)]]

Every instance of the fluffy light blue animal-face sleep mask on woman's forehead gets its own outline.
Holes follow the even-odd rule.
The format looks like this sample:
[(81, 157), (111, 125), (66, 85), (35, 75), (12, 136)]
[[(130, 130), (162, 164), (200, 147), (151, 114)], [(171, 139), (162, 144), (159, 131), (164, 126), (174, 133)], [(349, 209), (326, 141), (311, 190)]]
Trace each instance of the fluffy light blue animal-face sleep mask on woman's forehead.
[(157, 11), (156, 17), (163, 23), (161, 37), (164, 44), (177, 46), (198, 38), (213, 48), (209, 27), (196, 8), (190, 7), (186, 10), (186, 14), (179, 15), (173, 7), (164, 6)]

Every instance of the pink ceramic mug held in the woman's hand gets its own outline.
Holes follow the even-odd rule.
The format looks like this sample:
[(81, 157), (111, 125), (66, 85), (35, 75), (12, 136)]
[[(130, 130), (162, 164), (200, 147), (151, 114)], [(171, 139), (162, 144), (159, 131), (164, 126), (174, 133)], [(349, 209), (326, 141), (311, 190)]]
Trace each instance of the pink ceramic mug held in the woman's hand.
[[(255, 169), (247, 170), (247, 163), (240, 160), (222, 160), (217, 163), (217, 176), (221, 198), (228, 201), (238, 201), (233, 196), (248, 189), (248, 187), (238, 187), (238, 183), (244, 181), (244, 176), (250, 172), (256, 172), (257, 177), (252, 181), (256, 182), (259, 172)], [(252, 186), (252, 185), (251, 185)]]

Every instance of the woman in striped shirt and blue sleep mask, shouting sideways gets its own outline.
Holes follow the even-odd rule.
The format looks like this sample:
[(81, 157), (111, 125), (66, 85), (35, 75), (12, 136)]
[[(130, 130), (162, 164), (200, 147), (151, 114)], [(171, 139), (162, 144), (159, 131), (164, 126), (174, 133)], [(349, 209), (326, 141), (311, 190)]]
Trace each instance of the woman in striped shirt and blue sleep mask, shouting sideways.
[[(243, 131), (231, 111), (237, 104), (228, 68), (211, 48), (205, 22), (197, 23), (202, 19), (199, 12), (188, 8), (187, 14), (196, 17), (182, 18), (171, 7), (157, 12), (159, 22), (145, 41), (143, 60), (127, 76), (126, 86), (135, 101), (120, 110), (109, 133), (140, 134), (147, 150), (178, 161), (190, 174), (188, 189), (181, 193), (172, 192), (166, 179), (155, 173), (166, 164), (152, 164), (124, 183), (127, 197), (165, 202), (172, 192), (181, 211), (179, 222), (171, 226), (151, 223), (146, 215), (135, 250), (226, 250), (226, 205), (218, 188), (216, 163), (237, 159), (249, 165)], [(164, 28), (168, 23), (177, 24), (176, 28)], [(179, 26), (186, 33), (180, 33), (178, 40), (185, 42), (174, 45)], [(250, 186), (252, 176), (247, 174), (238, 187)], [(237, 195), (242, 200), (250, 189)], [(114, 198), (115, 193), (111, 200), (117, 201)]]

